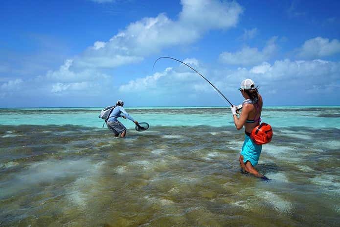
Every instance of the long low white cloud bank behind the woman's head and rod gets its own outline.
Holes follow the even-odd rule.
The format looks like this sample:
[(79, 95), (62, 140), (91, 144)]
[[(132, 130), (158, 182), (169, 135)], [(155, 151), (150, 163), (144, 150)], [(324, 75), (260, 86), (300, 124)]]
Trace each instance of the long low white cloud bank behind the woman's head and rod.
[[(185, 67), (183, 69), (183, 67)], [(234, 95), (236, 88), (245, 78), (252, 78), (256, 85), (268, 95), (284, 91), (286, 94), (299, 92), (301, 89), (311, 94), (330, 94), (340, 88), (340, 62), (323, 60), (292, 61), (290, 59), (277, 60), (272, 65), (263, 62), (250, 69), (237, 70), (211, 70), (198, 69), (210, 72), (207, 78), (223, 93)], [(204, 75), (204, 74), (203, 74)], [(164, 72), (155, 73), (130, 81), (119, 88), (123, 93), (135, 93), (139, 97), (165, 97), (182, 94), (189, 97), (197, 93), (197, 99), (216, 97), (213, 88), (199, 75), (189, 68), (179, 65), (176, 68), (167, 68)], [(322, 94), (324, 95), (324, 94)], [(233, 97), (233, 96), (231, 96)]]

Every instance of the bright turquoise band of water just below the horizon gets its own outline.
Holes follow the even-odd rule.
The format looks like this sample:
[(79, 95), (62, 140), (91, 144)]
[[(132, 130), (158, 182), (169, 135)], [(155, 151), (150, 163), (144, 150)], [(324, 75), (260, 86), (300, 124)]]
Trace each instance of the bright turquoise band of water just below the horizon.
[[(102, 108), (0, 109), (1, 125), (80, 125), (101, 127)], [(229, 108), (224, 107), (138, 107), (126, 108), (139, 122), (153, 126), (233, 126)], [(262, 120), (276, 127), (340, 127), (340, 107), (264, 107)], [(332, 117), (332, 116), (335, 116)], [(332, 120), (330, 120), (332, 119)], [(122, 119), (127, 127), (134, 124)]]

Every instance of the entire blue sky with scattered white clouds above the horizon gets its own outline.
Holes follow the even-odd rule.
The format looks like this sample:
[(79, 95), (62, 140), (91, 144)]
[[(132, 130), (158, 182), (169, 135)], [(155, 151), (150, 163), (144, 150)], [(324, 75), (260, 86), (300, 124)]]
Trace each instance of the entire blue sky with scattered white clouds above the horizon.
[(340, 105), (338, 0), (0, 2), (0, 107)]

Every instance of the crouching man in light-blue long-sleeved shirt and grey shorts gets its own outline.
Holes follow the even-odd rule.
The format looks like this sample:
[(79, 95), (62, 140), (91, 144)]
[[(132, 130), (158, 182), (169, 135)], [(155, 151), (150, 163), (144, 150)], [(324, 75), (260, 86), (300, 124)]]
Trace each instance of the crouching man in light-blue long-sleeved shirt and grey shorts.
[[(111, 112), (109, 119), (106, 123), (108, 128), (114, 133), (115, 137), (118, 137), (120, 134), (121, 138), (124, 138), (126, 135), (126, 127), (120, 123), (117, 118), (122, 117), (122, 118), (127, 118), (131, 121), (133, 121), (135, 124), (138, 124), (137, 121), (135, 121), (123, 108), (124, 102), (121, 100), (118, 100), (116, 103), (116, 106), (113, 108), (113, 111)], [(123, 115), (121, 115), (123, 114)]]

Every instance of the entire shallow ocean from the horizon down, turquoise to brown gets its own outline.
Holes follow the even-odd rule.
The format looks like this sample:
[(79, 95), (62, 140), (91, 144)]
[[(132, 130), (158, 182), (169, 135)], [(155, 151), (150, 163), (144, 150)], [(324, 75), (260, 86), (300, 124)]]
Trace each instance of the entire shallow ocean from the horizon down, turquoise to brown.
[(96, 108), (0, 109), (0, 226), (338, 227), (340, 107), (267, 106), (255, 167), (227, 107), (130, 107), (117, 139)]

